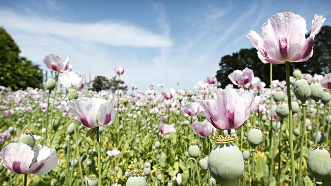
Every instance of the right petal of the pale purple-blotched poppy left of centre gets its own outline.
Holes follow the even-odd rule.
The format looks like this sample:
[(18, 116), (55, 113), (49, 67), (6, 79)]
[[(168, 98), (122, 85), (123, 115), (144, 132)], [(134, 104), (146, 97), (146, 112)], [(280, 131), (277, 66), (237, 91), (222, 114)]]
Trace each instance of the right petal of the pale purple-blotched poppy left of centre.
[(116, 117), (115, 104), (116, 95), (112, 94), (105, 103), (100, 105), (98, 110), (98, 123), (100, 126), (107, 126), (114, 122)]

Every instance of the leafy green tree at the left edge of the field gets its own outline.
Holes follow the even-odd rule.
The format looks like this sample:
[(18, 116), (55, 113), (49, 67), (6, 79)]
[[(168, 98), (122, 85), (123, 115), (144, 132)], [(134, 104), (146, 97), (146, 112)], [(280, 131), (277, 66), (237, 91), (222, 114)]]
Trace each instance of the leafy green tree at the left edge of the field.
[(31, 60), (19, 56), (20, 52), (14, 39), (0, 27), (0, 85), (14, 90), (41, 88), (42, 70)]

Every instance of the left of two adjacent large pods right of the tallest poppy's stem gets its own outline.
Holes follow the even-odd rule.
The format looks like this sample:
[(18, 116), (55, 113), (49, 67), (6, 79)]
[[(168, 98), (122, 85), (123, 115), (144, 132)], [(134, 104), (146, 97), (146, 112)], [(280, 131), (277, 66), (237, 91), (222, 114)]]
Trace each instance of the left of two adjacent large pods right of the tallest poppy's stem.
[(295, 97), (302, 103), (305, 103), (311, 95), (311, 89), (306, 79), (296, 80), (293, 89)]

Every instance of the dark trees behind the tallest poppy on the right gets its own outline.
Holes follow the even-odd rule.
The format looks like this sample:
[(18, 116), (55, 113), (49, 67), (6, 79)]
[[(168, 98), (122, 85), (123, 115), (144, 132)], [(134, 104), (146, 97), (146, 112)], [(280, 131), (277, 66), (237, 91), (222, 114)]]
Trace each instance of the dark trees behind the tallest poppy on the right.
[[(306, 36), (308, 37), (309, 34)], [(331, 71), (331, 27), (323, 26), (315, 37), (314, 54), (305, 62), (291, 63), (291, 69), (300, 69), (302, 73), (327, 74)], [(231, 83), (228, 75), (234, 70), (243, 70), (248, 67), (254, 71), (267, 85), (270, 84), (269, 64), (263, 64), (257, 56), (255, 48), (240, 49), (232, 55), (225, 55), (220, 59), (219, 70), (216, 72), (217, 80), (222, 87)], [(285, 64), (272, 66), (272, 78), (285, 80)]]

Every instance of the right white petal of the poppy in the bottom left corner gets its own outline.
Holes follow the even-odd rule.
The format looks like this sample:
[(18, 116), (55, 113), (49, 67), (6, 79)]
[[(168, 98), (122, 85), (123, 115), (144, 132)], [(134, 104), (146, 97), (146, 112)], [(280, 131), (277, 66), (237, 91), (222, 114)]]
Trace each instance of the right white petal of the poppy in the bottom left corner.
[(38, 148), (38, 154), (36, 162), (29, 168), (29, 173), (43, 175), (58, 166), (59, 159), (55, 149), (42, 145), (36, 145), (35, 148)]

